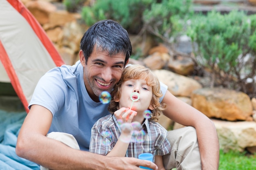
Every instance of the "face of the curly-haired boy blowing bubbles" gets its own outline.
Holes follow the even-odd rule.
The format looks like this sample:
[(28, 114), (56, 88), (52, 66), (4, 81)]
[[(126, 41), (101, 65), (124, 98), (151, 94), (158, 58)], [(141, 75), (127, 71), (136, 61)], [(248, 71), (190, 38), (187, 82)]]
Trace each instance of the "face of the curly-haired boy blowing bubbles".
[[(132, 104), (130, 95), (134, 92), (139, 93), (139, 100)], [(130, 108), (132, 106), (132, 110), (139, 113), (147, 109), (153, 110), (151, 106), (152, 95), (152, 87), (146, 84), (146, 80), (130, 79), (122, 83), (120, 99), (117, 99), (115, 102), (119, 102), (119, 108)]]

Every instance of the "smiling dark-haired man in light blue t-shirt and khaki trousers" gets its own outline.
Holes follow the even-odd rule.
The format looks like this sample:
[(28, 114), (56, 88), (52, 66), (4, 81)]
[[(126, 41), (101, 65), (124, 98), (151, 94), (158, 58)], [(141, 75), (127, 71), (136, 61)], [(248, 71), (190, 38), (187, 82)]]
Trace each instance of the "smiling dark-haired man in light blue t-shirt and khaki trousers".
[[(119, 81), (132, 46), (120, 24), (103, 20), (85, 32), (80, 47), (80, 61), (74, 66), (54, 68), (38, 82), (18, 135), (17, 155), (56, 170), (139, 170), (139, 166), (157, 170), (149, 161), (87, 152), (93, 124), (109, 114), (108, 104), (100, 103), (99, 95), (110, 92)], [(161, 90), (162, 102), (167, 104), (164, 114), (192, 126), (169, 132), (172, 150), (164, 158), (166, 169), (195, 170), (201, 166), (203, 170), (218, 170), (219, 145), (212, 121), (174, 97), (166, 86)], [(49, 132), (67, 135), (65, 139), (58, 135), (46, 137)], [(66, 143), (70, 139), (77, 141), (80, 150)]]

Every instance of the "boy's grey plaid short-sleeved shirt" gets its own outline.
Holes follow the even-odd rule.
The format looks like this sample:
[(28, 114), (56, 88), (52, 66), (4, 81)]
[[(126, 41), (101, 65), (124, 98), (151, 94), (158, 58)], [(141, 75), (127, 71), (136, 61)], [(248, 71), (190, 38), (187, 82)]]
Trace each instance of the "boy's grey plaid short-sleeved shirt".
[[(141, 153), (152, 153), (155, 157), (155, 155), (167, 155), (171, 152), (167, 130), (159, 123), (145, 119), (141, 129), (145, 134), (137, 135), (135, 140), (130, 141), (126, 157), (138, 158)], [(102, 117), (92, 127), (90, 152), (107, 155), (117, 143), (120, 134), (121, 129), (115, 115)]]

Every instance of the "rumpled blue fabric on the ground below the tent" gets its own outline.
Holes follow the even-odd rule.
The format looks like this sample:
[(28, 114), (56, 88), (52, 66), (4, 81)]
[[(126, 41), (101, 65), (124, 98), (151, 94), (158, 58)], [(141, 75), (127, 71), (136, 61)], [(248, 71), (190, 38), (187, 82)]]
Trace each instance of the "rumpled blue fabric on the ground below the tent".
[(36, 163), (18, 157), (15, 152), (20, 127), (26, 117), (24, 112), (0, 110), (0, 170), (39, 170)]

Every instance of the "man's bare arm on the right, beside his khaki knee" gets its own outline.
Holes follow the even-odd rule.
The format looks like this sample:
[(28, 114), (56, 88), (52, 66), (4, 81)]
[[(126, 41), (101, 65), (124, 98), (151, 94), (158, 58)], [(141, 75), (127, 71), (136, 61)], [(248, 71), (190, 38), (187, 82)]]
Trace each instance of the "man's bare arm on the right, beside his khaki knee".
[(179, 124), (193, 126), (196, 129), (202, 170), (218, 170), (219, 141), (211, 119), (169, 91), (166, 91), (162, 102), (167, 105), (164, 115)]

